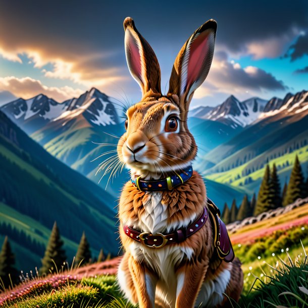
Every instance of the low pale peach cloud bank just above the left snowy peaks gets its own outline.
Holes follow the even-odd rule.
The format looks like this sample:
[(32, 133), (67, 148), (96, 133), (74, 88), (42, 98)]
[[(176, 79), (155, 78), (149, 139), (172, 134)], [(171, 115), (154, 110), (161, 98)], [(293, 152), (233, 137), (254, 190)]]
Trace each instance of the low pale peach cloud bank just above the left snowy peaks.
[(13, 92), (18, 97), (30, 98), (38, 93), (43, 93), (57, 101), (63, 101), (72, 97), (79, 96), (84, 91), (73, 89), (68, 86), (64, 87), (47, 87), (39, 80), (30, 77), (17, 78), (14, 76), (0, 78), (0, 90)]

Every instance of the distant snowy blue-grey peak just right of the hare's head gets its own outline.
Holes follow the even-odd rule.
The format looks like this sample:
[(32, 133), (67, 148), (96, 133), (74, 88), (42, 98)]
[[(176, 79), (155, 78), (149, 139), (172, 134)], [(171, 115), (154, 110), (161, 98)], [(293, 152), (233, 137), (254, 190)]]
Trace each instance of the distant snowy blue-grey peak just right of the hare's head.
[(259, 97), (252, 97), (241, 102), (231, 95), (204, 118), (227, 124), (232, 128), (245, 127), (258, 119), (266, 104), (267, 100)]

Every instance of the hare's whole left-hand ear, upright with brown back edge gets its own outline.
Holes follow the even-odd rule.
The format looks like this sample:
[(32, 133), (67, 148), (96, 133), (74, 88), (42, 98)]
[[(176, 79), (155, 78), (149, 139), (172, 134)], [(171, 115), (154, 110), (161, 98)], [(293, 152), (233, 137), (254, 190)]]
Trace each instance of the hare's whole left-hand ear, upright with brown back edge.
[(142, 96), (148, 91), (161, 93), (161, 69), (153, 49), (141, 36), (134, 21), (124, 20), (125, 54), (131, 75), (139, 83)]

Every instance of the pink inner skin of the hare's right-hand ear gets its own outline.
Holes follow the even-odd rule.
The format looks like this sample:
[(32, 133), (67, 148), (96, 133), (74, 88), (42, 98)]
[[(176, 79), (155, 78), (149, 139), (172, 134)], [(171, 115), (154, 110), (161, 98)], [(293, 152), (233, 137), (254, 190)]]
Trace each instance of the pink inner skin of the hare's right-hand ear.
[(203, 62), (209, 50), (208, 40), (209, 32), (204, 31), (190, 45), (186, 89), (190, 88), (201, 74)]

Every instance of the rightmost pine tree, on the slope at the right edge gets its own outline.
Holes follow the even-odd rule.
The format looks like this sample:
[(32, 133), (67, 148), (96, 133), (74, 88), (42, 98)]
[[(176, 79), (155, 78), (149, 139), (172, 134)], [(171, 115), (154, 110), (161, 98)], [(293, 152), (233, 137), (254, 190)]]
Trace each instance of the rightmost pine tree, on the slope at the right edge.
[(301, 171), (298, 157), (296, 155), (287, 187), (287, 192), (283, 200), (283, 205), (287, 206), (288, 204), (293, 203), (297, 198), (303, 198), (305, 194), (304, 191), (304, 177)]

